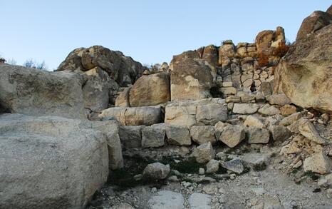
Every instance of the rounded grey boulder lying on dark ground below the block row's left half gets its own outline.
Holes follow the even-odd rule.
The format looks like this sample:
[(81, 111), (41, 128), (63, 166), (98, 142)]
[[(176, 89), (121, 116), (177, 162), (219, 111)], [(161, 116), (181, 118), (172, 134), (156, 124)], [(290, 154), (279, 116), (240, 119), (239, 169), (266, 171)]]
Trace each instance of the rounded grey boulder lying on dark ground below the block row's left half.
[(165, 179), (169, 173), (170, 165), (164, 165), (162, 163), (151, 163), (143, 170), (143, 176), (152, 179)]

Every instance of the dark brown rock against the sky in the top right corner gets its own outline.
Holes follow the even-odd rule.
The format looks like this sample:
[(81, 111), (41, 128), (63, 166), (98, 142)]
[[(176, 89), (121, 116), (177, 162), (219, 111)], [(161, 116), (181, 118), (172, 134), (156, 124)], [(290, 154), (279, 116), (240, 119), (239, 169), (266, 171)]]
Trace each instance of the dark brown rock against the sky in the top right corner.
[(306, 39), (307, 36), (313, 34), (324, 26), (331, 24), (332, 15), (328, 12), (313, 11), (313, 13), (306, 17), (301, 24), (299, 31), (297, 32), (296, 41), (300, 39)]

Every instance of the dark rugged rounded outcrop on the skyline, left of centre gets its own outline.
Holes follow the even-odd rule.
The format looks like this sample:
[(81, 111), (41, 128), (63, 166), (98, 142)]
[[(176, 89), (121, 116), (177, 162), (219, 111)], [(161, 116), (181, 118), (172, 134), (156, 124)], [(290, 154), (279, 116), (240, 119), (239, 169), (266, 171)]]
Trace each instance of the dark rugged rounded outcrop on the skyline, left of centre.
[(106, 71), (120, 86), (133, 84), (145, 69), (141, 63), (124, 56), (120, 51), (91, 46), (71, 51), (57, 71), (88, 71), (96, 66)]

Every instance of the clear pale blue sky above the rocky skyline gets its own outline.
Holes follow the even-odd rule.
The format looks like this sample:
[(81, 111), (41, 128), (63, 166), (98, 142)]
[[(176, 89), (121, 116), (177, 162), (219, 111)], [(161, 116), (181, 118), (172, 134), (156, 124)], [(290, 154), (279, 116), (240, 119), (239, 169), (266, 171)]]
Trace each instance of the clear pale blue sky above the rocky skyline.
[(0, 0), (0, 55), (56, 68), (77, 47), (102, 45), (141, 63), (225, 39), (252, 42), (283, 26), (294, 41), (302, 20), (331, 0)]

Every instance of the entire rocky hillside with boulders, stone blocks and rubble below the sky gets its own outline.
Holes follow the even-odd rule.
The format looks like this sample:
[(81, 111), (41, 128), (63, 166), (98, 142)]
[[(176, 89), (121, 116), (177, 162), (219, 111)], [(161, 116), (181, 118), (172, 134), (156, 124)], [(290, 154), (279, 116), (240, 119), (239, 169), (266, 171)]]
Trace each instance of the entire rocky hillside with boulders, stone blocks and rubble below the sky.
[(331, 11), (158, 69), (0, 63), (0, 209), (332, 208)]

